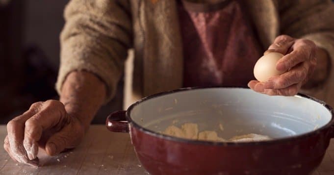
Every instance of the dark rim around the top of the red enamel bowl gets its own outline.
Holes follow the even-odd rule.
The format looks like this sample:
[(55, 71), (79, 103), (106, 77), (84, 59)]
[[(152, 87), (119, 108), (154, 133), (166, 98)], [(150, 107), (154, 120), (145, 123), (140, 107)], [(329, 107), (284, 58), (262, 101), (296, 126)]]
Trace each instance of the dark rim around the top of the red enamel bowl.
[[(128, 121), (128, 124), (131, 125), (132, 127), (135, 127), (136, 129), (140, 130), (141, 132), (160, 138), (160, 139), (166, 139), (169, 141), (175, 141), (175, 142), (181, 142), (181, 143), (187, 143), (187, 144), (194, 144), (194, 145), (211, 145), (211, 146), (252, 146), (252, 145), (272, 145), (272, 144), (278, 144), (278, 143), (288, 143), (290, 141), (296, 141), (297, 139), (302, 139), (302, 138), (307, 138), (307, 137), (311, 137), (314, 135), (319, 134), (320, 132), (326, 130), (326, 129), (331, 129), (330, 127), (334, 127), (334, 110), (333, 108), (328, 105), (326, 102), (322, 101), (322, 100), (318, 100), (314, 97), (302, 94), (302, 93), (298, 93), (297, 95), (293, 96), (293, 97), (299, 97), (299, 98), (306, 98), (309, 100), (313, 100), (317, 103), (320, 103), (321, 105), (323, 105), (332, 115), (331, 120), (326, 124), (323, 125), (322, 127), (319, 127), (313, 131), (310, 132), (306, 132), (304, 134), (300, 134), (300, 135), (295, 135), (295, 136), (289, 136), (289, 137), (283, 137), (283, 138), (279, 138), (279, 139), (273, 139), (273, 140), (265, 140), (265, 141), (256, 141), (256, 142), (214, 142), (214, 141), (202, 141), (202, 140), (192, 140), (192, 139), (185, 139), (185, 138), (180, 138), (180, 137), (173, 137), (173, 136), (169, 136), (166, 134), (162, 134), (159, 132), (155, 132), (153, 130), (147, 129), (139, 124), (137, 124), (136, 122), (134, 122), (131, 117), (130, 117), (130, 111), (137, 105), (139, 105), (140, 103), (150, 100), (150, 99), (154, 99), (157, 97), (161, 97), (161, 96), (165, 96), (168, 94), (173, 94), (173, 93), (177, 93), (177, 92), (184, 92), (184, 91), (189, 91), (189, 90), (198, 90), (198, 89), (214, 89), (214, 88), (224, 88), (224, 89), (249, 89), (248, 87), (242, 87), (242, 86), (206, 86), (206, 87), (186, 87), (186, 88), (180, 88), (180, 89), (175, 89), (175, 90), (171, 90), (171, 91), (166, 91), (166, 92), (161, 92), (161, 93), (157, 93), (151, 96), (147, 96), (144, 97), (140, 100), (137, 100), (136, 102), (132, 103), (127, 111), (126, 111), (126, 119)], [(130, 133), (131, 134), (131, 133)], [(329, 136), (330, 137), (330, 136)]]

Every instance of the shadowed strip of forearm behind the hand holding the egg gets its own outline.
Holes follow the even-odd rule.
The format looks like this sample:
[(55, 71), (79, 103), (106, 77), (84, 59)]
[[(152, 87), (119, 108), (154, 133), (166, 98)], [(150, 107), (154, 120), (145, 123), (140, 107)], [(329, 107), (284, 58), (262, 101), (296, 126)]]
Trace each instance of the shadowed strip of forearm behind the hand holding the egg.
[(324, 49), (318, 48), (316, 51), (317, 65), (314, 69), (313, 75), (303, 88), (314, 88), (324, 83), (330, 72), (331, 59), (328, 52)]

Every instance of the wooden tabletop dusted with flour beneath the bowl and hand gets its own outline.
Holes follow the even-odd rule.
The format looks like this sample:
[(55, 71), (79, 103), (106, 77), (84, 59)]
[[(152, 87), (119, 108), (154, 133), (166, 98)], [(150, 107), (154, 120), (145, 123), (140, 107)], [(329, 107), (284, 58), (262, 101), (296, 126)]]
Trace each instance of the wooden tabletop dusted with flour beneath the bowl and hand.
[[(3, 149), (6, 127), (0, 125), (0, 175), (148, 175), (134, 153), (128, 134), (111, 133), (104, 125), (92, 125), (75, 149), (57, 156), (39, 153), (42, 166), (14, 162)], [(334, 139), (312, 175), (334, 175)]]

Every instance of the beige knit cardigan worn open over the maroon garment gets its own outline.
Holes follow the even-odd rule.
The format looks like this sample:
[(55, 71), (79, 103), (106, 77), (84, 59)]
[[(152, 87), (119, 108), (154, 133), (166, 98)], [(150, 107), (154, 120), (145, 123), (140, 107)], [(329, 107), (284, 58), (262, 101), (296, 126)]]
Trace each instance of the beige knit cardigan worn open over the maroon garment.
[[(245, 0), (265, 50), (280, 34), (307, 38), (328, 51), (334, 67), (331, 0)], [(86, 70), (106, 84), (110, 100), (134, 49), (131, 96), (138, 99), (182, 86), (183, 58), (176, 0), (71, 0), (60, 36), (56, 89), (70, 72)], [(305, 92), (334, 106), (334, 71)]]

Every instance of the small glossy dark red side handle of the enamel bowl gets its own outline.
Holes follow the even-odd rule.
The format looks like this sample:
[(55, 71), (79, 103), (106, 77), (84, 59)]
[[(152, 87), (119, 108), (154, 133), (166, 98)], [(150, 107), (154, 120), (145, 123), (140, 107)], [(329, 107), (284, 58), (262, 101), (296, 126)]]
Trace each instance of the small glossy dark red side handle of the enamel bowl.
[(111, 132), (129, 132), (128, 121), (126, 119), (127, 111), (116, 111), (108, 115), (105, 126)]

